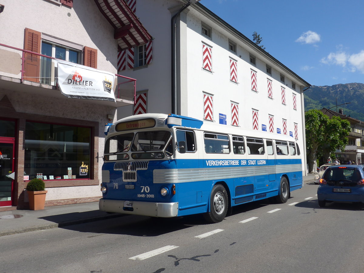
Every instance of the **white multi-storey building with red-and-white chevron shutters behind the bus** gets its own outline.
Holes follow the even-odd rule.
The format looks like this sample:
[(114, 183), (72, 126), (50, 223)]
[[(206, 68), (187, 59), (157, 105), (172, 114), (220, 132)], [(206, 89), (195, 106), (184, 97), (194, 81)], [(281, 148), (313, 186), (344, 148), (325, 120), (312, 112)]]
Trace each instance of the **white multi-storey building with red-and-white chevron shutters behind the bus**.
[(305, 154), (303, 92), (310, 84), (203, 1), (193, 2), (130, 1), (153, 40), (119, 52), (119, 73), (137, 79), (138, 86), (137, 103), (118, 110), (118, 119), (180, 114), (291, 135)]

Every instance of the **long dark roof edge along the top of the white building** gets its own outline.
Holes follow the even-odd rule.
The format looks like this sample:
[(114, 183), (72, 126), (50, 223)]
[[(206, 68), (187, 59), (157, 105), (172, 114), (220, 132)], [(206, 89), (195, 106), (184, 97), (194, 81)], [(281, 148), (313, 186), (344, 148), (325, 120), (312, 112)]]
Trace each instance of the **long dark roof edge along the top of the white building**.
[(198, 6), (199, 8), (201, 8), (203, 11), (205, 11), (208, 15), (214, 17), (214, 19), (216, 19), (219, 23), (221, 23), (222, 25), (224, 25), (225, 27), (227, 27), (228, 29), (230, 29), (230, 31), (232, 31), (236, 35), (240, 36), (240, 38), (242, 40), (244, 40), (247, 44), (249, 44), (250, 47), (253, 47), (255, 50), (259, 51), (262, 55), (265, 55), (266, 58), (268, 58), (270, 61), (272, 61), (273, 63), (275, 63), (277, 66), (282, 67), (284, 70), (286, 70), (287, 72), (289, 72), (295, 78), (297, 78), (298, 80), (300, 80), (302, 83), (305, 84), (305, 86), (307, 86), (307, 87), (310, 87), (311, 86), (311, 84), (309, 84), (308, 82), (306, 82), (304, 79), (302, 79), (300, 76), (298, 76), (292, 70), (290, 70), (288, 67), (286, 67), (284, 64), (282, 64), (280, 61), (278, 61), (276, 58), (274, 58), (268, 52), (266, 52), (265, 50), (263, 50), (261, 47), (257, 46), (252, 40), (250, 40), (248, 37), (246, 37), (240, 31), (238, 31), (237, 29), (235, 29), (234, 27), (232, 27), (230, 24), (226, 23), (224, 20), (222, 20), (219, 16), (217, 16), (215, 13), (213, 13), (212, 11), (210, 11), (204, 5), (202, 5), (200, 3), (195, 3), (195, 5)]

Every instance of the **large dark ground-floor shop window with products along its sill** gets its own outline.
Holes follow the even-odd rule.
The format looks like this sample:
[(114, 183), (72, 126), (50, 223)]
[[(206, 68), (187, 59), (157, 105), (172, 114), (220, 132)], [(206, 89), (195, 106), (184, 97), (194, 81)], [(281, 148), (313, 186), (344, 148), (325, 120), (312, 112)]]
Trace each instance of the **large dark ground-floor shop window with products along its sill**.
[(90, 179), (91, 128), (26, 122), (24, 175)]

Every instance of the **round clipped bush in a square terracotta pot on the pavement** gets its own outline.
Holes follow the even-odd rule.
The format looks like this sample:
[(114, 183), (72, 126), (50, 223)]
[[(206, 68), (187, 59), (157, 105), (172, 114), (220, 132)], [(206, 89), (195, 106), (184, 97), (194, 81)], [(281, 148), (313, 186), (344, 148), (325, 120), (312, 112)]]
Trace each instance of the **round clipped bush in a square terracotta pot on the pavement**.
[(46, 184), (40, 178), (33, 178), (26, 187), (29, 197), (29, 209), (42, 210), (46, 202)]

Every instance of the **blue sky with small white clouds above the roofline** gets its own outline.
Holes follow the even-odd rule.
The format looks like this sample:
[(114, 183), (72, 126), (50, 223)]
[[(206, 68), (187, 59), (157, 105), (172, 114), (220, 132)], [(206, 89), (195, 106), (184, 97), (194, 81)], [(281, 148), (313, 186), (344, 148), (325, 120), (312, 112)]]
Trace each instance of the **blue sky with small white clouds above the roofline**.
[(364, 83), (364, 0), (201, 0), (311, 85)]

